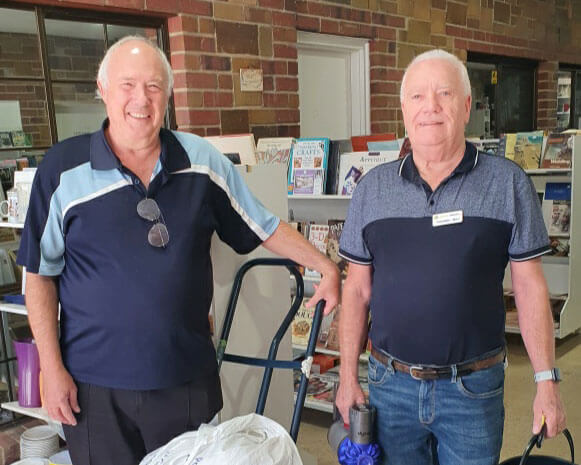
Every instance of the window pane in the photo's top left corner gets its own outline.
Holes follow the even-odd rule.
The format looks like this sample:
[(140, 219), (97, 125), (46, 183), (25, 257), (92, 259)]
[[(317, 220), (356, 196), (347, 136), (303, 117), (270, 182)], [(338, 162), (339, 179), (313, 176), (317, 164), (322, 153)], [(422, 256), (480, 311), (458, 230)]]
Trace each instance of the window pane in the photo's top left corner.
[(0, 77), (42, 78), (34, 12), (0, 8)]

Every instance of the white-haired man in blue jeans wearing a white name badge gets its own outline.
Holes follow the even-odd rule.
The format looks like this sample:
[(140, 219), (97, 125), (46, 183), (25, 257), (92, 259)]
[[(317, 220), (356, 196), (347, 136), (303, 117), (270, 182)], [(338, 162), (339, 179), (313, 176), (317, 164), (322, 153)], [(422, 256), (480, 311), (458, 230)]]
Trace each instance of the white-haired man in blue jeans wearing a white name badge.
[(433, 50), (412, 61), (401, 85), (412, 153), (361, 180), (341, 236), (351, 265), (337, 405), (348, 418), (364, 400), (357, 364), (370, 310), (369, 395), (389, 465), (498, 463), (509, 261), (538, 381), (533, 431), (543, 416), (547, 436), (565, 427), (540, 205), (520, 167), (466, 143), (470, 93), (453, 55)]

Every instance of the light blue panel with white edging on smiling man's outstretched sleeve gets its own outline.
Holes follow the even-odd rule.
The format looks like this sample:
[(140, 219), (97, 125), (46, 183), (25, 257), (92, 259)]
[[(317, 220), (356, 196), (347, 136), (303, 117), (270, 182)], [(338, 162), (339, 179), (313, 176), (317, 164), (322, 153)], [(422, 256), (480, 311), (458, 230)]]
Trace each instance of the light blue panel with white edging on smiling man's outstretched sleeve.
[(228, 196), (232, 208), (262, 240), (276, 230), (280, 219), (268, 211), (250, 192), (234, 165), (212, 144), (194, 134), (173, 132), (185, 149), (191, 166), (174, 174), (203, 173)]

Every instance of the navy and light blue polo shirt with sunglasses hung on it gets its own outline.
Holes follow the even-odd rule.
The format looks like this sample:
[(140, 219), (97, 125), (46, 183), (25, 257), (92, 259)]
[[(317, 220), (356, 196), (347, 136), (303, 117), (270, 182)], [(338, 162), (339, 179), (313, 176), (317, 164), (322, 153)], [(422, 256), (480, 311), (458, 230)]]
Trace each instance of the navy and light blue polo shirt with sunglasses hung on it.
[[(63, 360), (81, 382), (161, 389), (215, 374), (211, 237), (248, 253), (279, 224), (204, 139), (160, 138), (148, 189), (103, 130), (56, 144), (34, 180), (18, 263), (58, 276)], [(146, 196), (167, 225), (165, 248), (148, 243), (153, 223), (137, 214)]]

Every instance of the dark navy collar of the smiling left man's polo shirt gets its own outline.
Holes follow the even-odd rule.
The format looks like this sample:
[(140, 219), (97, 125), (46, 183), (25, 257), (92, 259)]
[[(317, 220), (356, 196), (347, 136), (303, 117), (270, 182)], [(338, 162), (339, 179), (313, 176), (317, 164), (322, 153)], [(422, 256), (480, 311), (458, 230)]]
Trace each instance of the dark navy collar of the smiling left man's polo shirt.
[[(108, 127), (109, 118), (103, 121), (99, 131), (94, 132), (91, 135), (90, 160), (91, 168), (95, 170), (122, 168), (119, 158), (117, 158), (113, 153), (113, 150), (111, 150), (107, 138), (105, 137), (105, 129)], [(161, 128), (159, 131), (159, 137), (161, 139), (161, 154), (159, 158), (162, 165), (162, 171), (173, 173), (175, 171), (189, 168), (189, 157), (173, 133), (167, 129)]]

